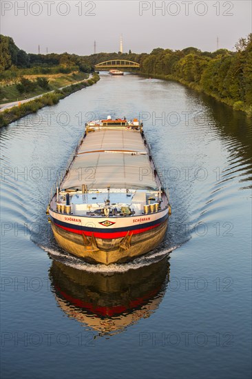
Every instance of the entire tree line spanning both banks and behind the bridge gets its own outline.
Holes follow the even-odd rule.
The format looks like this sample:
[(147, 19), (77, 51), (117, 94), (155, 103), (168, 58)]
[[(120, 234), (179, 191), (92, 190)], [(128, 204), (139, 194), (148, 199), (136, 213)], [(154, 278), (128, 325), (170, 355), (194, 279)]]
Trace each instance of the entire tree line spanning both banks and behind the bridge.
[(0, 81), (14, 80), (17, 71), (22, 70), (28, 70), (22, 74), (26, 79), (29, 79), (26, 75), (69, 75), (74, 70), (94, 72), (94, 65), (102, 61), (127, 59), (140, 63), (140, 74), (179, 81), (231, 105), (234, 110), (252, 115), (252, 34), (240, 39), (235, 51), (220, 49), (215, 52), (202, 52), (193, 47), (175, 51), (156, 48), (150, 54), (136, 54), (129, 50), (80, 57), (66, 52), (27, 54), (5, 36), (0, 36), (0, 45)]

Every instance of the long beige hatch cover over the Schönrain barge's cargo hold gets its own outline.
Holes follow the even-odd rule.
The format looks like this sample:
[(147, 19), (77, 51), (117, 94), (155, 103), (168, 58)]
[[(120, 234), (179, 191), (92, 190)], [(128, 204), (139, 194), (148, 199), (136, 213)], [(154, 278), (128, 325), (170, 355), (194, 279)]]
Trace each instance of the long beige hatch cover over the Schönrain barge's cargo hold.
[(152, 189), (158, 187), (147, 147), (139, 131), (105, 129), (89, 132), (61, 189)]

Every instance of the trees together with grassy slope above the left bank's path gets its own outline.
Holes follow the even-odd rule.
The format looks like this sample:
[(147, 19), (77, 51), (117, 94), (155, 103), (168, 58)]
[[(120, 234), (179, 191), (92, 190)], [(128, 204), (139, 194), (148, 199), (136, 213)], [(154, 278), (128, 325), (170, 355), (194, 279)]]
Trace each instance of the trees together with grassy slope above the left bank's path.
[(74, 54), (27, 54), (0, 35), (0, 103), (21, 101), (83, 81), (93, 72)]

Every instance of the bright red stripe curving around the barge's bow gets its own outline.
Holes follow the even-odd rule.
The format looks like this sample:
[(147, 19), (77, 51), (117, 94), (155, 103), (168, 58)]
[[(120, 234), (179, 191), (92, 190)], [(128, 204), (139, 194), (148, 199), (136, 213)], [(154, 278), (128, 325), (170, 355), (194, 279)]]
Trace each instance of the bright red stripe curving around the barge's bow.
[(72, 229), (70, 227), (64, 227), (62, 225), (57, 224), (55, 221), (54, 221), (54, 224), (57, 227), (61, 227), (61, 229), (64, 229), (67, 232), (71, 232), (74, 234), (85, 234), (85, 236), (92, 236), (92, 234), (94, 234), (94, 237), (97, 237), (97, 238), (111, 239), (111, 238), (125, 237), (128, 232), (130, 232), (130, 234), (144, 233), (144, 232), (147, 232), (148, 230), (158, 227), (162, 223), (158, 223), (156, 225), (149, 226), (149, 227), (141, 227), (140, 229), (134, 229), (134, 230), (127, 230), (127, 227), (125, 227), (125, 232), (115, 232), (115, 233), (87, 232), (86, 230), (84, 232), (83, 230)]

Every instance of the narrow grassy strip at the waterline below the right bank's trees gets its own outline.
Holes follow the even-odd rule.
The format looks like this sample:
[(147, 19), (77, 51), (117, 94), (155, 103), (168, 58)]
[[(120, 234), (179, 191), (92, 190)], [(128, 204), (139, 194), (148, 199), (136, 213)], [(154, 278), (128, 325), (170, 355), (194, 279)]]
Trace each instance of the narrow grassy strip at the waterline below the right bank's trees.
[(185, 81), (185, 79), (180, 79), (173, 75), (160, 75), (160, 74), (151, 75), (151, 74), (146, 74), (145, 72), (138, 72), (138, 74), (146, 76), (148, 78), (151, 76), (152, 78), (156, 78), (156, 79), (162, 79), (162, 80), (167, 80), (167, 81), (169, 80), (177, 81), (178, 83), (181, 83), (183, 85), (186, 85), (189, 88), (192, 88), (193, 90), (196, 90), (198, 92), (203, 92), (204, 94), (207, 94), (213, 97), (214, 99), (220, 101), (221, 103), (224, 103), (226, 105), (233, 107), (233, 110), (240, 110), (242, 112), (245, 112), (248, 116), (252, 117), (252, 105), (244, 105), (242, 101), (235, 101), (229, 98), (221, 98), (220, 96), (218, 96), (217, 94), (214, 94), (213, 92), (204, 90), (204, 88), (202, 88), (197, 83)]

